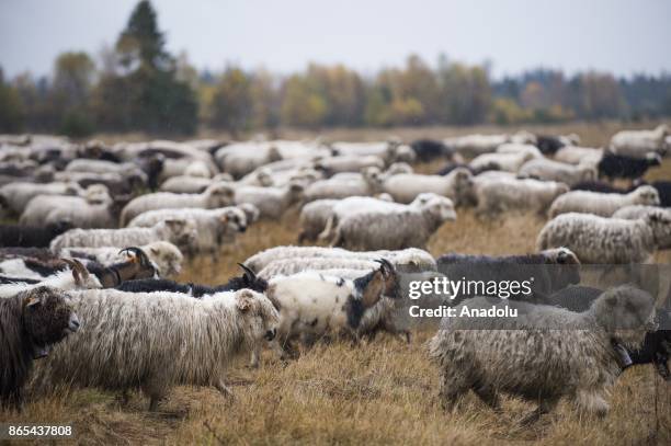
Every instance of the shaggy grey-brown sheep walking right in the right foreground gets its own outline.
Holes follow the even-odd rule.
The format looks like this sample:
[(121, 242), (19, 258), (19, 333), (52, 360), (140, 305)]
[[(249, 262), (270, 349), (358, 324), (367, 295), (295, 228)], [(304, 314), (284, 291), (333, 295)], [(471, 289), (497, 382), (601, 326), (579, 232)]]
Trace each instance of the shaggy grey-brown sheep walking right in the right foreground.
[[(493, 409), (499, 392), (538, 401), (523, 423), (569, 397), (587, 415), (604, 416), (605, 397), (622, 373), (618, 347), (636, 347), (652, 325), (653, 300), (623, 286), (602, 294), (583, 313), (528, 302), (474, 298), (444, 318), (429, 355), (441, 373), (445, 409), (473, 389)], [(469, 318), (469, 311), (518, 311), (516, 317)], [(466, 313), (463, 311), (466, 310)]]

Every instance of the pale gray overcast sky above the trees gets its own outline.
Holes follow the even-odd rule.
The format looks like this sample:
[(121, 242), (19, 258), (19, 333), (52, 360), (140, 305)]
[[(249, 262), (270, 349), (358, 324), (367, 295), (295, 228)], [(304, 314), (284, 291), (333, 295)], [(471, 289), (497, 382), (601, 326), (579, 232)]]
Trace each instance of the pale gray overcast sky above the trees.
[[(5, 75), (48, 73), (60, 52), (114, 44), (136, 0), (0, 0)], [(366, 73), (416, 53), (433, 64), (671, 71), (669, 0), (153, 0), (168, 48), (197, 68), (291, 72), (308, 61)]]

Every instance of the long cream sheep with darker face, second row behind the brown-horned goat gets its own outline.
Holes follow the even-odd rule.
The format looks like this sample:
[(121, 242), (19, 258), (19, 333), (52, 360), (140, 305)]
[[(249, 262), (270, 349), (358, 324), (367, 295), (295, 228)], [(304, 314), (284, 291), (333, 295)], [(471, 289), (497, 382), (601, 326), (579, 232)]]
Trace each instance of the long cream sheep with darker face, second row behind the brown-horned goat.
[(192, 219), (171, 219), (151, 228), (70, 229), (52, 240), (50, 248), (56, 251), (72, 247), (128, 247), (159, 240), (191, 250), (197, 240), (196, 224)]

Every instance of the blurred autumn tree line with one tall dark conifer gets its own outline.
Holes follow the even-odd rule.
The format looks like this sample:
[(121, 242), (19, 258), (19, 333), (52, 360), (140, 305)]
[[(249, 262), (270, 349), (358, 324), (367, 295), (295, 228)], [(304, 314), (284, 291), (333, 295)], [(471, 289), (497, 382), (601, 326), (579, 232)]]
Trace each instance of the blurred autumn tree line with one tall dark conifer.
[(536, 69), (492, 79), (486, 65), (410, 56), (365, 77), (343, 65), (310, 64), (275, 76), (229, 66), (198, 72), (185, 54), (166, 50), (148, 0), (140, 1), (113, 47), (98, 60), (57, 57), (53, 73), (5, 79), (0, 68), (0, 131), (88, 136), (94, 131), (190, 135), (281, 126), (391, 127), (642, 119), (671, 115), (671, 75), (617, 79)]

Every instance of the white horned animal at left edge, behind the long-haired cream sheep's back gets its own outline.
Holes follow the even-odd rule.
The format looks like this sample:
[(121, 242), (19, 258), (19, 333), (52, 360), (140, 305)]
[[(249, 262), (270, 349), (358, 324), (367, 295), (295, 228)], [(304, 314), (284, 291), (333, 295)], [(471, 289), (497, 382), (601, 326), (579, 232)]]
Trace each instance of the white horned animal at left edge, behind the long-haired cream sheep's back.
[(71, 289), (102, 288), (102, 283), (98, 276), (90, 275), (81, 262), (71, 259), (62, 259), (62, 261), (67, 263), (69, 268), (45, 277), (37, 283), (26, 284), (15, 282), (1, 285), (0, 299), (12, 297), (16, 293), (38, 288), (41, 286), (49, 286), (53, 288), (62, 289), (64, 291)]

